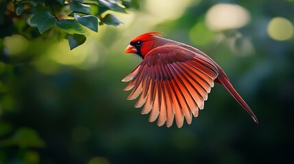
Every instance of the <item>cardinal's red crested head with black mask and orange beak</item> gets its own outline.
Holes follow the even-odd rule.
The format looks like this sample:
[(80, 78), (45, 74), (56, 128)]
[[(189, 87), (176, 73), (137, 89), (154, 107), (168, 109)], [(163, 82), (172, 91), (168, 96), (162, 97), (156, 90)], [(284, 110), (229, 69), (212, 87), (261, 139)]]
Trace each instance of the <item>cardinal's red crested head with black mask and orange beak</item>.
[(125, 49), (125, 53), (136, 53), (144, 59), (144, 57), (157, 46), (161, 46), (160, 38), (155, 36), (160, 32), (144, 33), (134, 38)]

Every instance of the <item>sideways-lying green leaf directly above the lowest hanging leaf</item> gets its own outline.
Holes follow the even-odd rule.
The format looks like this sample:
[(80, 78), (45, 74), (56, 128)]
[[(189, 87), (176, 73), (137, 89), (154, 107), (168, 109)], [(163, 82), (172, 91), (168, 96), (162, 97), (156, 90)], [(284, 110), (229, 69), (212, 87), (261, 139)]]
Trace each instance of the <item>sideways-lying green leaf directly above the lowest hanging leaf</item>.
[(79, 23), (73, 19), (62, 19), (58, 21), (56, 25), (69, 34), (84, 34), (86, 32), (82, 25), (79, 25)]

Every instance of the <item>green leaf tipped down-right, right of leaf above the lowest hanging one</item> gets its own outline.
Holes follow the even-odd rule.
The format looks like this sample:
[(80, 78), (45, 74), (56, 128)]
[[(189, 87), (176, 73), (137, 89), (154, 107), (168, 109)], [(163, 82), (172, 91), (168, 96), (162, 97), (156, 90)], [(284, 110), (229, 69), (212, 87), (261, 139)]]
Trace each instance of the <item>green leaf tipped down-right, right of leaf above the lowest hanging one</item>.
[(98, 18), (96, 16), (79, 16), (77, 14), (73, 14), (73, 16), (75, 16), (75, 20), (77, 20), (79, 24), (84, 25), (92, 31), (98, 32)]

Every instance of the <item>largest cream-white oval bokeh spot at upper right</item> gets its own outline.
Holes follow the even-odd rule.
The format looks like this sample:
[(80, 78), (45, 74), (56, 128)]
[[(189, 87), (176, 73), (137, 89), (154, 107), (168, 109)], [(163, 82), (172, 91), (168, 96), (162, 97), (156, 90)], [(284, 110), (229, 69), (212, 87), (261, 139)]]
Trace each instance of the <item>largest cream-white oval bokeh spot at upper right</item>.
[(214, 31), (238, 29), (249, 20), (249, 12), (241, 5), (217, 4), (206, 13), (206, 25)]

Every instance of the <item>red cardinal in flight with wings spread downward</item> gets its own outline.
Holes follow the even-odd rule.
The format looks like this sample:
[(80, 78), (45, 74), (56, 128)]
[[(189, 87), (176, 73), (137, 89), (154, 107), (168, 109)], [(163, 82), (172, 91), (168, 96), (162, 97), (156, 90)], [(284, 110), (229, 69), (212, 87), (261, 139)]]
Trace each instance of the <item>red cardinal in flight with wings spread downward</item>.
[(184, 118), (191, 124), (192, 115), (204, 109), (204, 100), (214, 86), (221, 83), (233, 98), (258, 123), (253, 111), (234, 90), (223, 69), (208, 55), (187, 44), (155, 36), (159, 32), (144, 33), (134, 38), (125, 53), (136, 53), (143, 61), (122, 81), (130, 83), (124, 90), (132, 90), (127, 97), (134, 107), (143, 107), (142, 114), (151, 111), (149, 122), (158, 119), (170, 127), (175, 122), (183, 126)]

